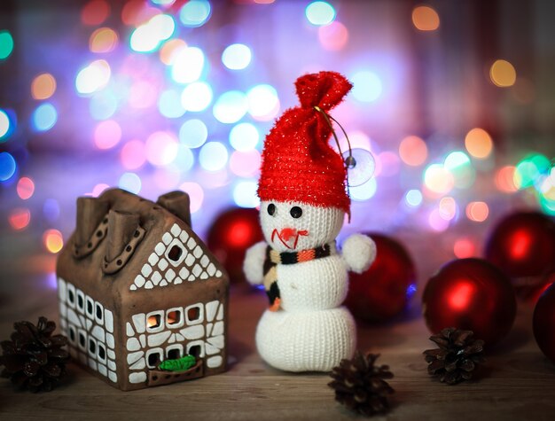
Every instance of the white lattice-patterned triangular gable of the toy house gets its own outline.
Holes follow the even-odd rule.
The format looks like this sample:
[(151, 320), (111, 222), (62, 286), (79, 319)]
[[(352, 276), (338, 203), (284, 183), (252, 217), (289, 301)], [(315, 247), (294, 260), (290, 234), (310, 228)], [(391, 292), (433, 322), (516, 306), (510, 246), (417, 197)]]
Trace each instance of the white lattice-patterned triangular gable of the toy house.
[(174, 223), (154, 247), (141, 273), (135, 277), (129, 289), (152, 289), (222, 275), (202, 251), (197, 240)]

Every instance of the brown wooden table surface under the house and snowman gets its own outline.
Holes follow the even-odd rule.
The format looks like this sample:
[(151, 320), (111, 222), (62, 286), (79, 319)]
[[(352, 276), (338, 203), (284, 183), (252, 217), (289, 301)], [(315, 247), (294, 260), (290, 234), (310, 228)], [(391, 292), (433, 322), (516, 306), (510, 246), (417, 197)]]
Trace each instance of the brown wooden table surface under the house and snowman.
[[(58, 320), (54, 258), (13, 258), (0, 267), (0, 339), (18, 320), (44, 315)], [(50, 273), (50, 275), (48, 275)], [(434, 344), (419, 316), (418, 300), (408, 315), (389, 324), (358, 326), (358, 347), (379, 353), (395, 374), (392, 409), (374, 419), (552, 420), (555, 364), (535, 345), (532, 307), (520, 304), (510, 335), (489, 354), (480, 380), (447, 386), (426, 374), (422, 351)], [(289, 374), (270, 368), (256, 353), (254, 330), (265, 298), (246, 287), (231, 291), (230, 367), (219, 376), (121, 392), (74, 363), (63, 385), (51, 393), (15, 391), (0, 381), (0, 419), (351, 419), (334, 402), (327, 374)]]

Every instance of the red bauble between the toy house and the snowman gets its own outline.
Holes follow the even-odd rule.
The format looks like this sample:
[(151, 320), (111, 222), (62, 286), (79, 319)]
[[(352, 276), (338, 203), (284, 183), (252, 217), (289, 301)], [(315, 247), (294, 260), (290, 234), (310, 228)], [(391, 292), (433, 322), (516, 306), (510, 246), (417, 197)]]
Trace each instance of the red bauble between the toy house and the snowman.
[(232, 208), (219, 214), (208, 230), (207, 246), (227, 270), (231, 282), (245, 280), (246, 249), (262, 241), (256, 209)]

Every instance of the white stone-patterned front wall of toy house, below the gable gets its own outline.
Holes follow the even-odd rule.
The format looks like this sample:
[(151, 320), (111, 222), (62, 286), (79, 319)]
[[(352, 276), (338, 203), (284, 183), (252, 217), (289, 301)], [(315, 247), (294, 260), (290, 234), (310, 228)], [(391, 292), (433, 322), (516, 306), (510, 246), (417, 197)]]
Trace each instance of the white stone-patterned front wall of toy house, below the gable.
[(184, 355), (206, 358), (208, 368), (223, 364), (223, 302), (138, 313), (126, 323), (129, 383), (146, 381), (148, 369)]

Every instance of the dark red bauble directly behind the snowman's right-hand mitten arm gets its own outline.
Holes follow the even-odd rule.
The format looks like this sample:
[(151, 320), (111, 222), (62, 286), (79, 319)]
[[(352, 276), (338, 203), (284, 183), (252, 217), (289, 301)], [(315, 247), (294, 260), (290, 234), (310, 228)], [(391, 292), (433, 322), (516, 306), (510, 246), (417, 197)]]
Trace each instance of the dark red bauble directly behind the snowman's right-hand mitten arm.
[(368, 235), (376, 243), (376, 260), (362, 274), (349, 274), (345, 304), (357, 318), (379, 322), (403, 311), (416, 291), (416, 270), (409, 253), (395, 239)]

